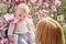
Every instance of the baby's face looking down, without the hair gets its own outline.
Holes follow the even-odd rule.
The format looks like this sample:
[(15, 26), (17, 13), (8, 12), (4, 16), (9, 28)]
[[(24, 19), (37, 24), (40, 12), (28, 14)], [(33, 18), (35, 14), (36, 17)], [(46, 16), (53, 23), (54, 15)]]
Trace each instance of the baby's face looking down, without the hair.
[(24, 11), (16, 10), (14, 15), (19, 21), (24, 21), (28, 16), (28, 13)]

